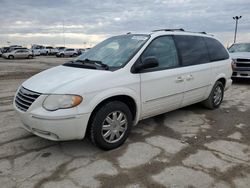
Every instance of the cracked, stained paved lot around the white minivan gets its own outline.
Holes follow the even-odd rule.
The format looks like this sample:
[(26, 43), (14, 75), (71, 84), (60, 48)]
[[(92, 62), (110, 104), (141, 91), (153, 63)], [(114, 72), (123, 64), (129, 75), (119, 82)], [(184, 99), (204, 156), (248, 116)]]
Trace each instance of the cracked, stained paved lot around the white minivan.
[(12, 108), (23, 80), (69, 59), (0, 58), (1, 187), (250, 187), (250, 82), (220, 109), (200, 105), (144, 120), (121, 148), (52, 142), (27, 133)]

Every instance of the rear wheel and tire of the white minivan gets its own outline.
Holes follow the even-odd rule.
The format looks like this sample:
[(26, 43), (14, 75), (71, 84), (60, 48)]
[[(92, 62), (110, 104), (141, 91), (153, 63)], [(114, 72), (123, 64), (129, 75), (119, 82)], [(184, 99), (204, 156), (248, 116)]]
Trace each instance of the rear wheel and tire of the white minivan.
[(220, 81), (215, 82), (209, 97), (203, 101), (203, 105), (208, 109), (219, 108), (224, 97), (224, 86)]

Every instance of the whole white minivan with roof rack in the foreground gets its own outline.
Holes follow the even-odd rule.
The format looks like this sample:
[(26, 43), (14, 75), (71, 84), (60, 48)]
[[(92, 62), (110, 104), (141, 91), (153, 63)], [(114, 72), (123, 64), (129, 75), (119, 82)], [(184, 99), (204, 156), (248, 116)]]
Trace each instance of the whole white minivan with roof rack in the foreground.
[(228, 51), (213, 36), (163, 29), (104, 40), (18, 89), (23, 127), (50, 140), (119, 147), (138, 121), (203, 102), (218, 108), (231, 85)]

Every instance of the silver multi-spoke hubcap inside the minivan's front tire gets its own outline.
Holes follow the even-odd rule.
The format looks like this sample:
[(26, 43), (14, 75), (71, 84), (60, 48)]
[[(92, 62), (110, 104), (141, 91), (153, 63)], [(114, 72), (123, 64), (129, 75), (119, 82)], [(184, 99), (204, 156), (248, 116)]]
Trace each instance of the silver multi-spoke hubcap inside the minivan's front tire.
[(123, 112), (111, 112), (102, 123), (102, 137), (108, 143), (115, 143), (122, 139), (127, 127), (127, 117)]

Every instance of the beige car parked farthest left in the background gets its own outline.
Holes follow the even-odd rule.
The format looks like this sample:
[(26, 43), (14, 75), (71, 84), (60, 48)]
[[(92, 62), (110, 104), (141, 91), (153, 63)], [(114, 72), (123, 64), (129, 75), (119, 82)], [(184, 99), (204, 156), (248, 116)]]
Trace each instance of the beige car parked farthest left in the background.
[(34, 57), (32, 51), (28, 49), (13, 50), (11, 52), (4, 53), (2, 56), (7, 59), (21, 59), (21, 58), (31, 59)]

